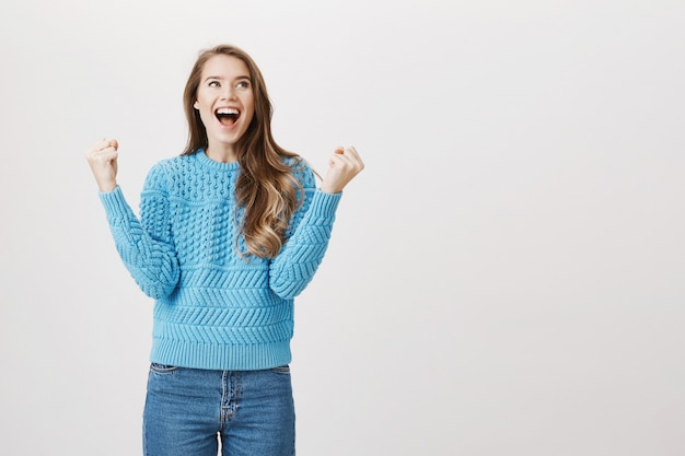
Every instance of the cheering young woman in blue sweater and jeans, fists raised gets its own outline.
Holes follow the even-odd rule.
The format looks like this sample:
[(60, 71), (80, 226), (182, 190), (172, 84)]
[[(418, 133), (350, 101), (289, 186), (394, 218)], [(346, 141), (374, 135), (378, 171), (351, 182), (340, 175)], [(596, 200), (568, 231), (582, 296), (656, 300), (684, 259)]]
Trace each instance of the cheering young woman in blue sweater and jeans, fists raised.
[(262, 73), (233, 46), (199, 55), (184, 106), (188, 143), (150, 171), (140, 218), (116, 183), (117, 141), (86, 152), (117, 250), (155, 300), (144, 454), (292, 455), (293, 297), (363, 164), (336, 149), (316, 189), (274, 141)]

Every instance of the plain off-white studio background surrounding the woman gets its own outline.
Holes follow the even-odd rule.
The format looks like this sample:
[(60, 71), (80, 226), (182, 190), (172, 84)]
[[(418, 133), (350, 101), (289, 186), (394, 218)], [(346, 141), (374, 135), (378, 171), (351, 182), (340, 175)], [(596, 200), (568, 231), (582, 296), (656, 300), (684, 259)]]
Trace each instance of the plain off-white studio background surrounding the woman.
[(0, 453), (140, 454), (133, 208), (197, 52), (247, 50), (274, 131), (367, 169), (297, 301), (298, 454), (685, 454), (681, 1), (3, 0)]

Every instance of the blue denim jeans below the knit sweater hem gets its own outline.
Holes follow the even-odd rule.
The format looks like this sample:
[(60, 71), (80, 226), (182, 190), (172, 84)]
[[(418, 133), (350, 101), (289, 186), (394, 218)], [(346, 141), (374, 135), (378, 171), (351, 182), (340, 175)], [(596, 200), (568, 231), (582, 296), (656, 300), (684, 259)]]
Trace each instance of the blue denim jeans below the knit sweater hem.
[(150, 366), (146, 456), (292, 456), (290, 369), (204, 371)]

